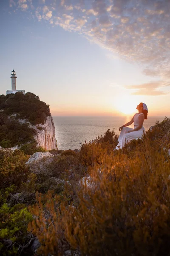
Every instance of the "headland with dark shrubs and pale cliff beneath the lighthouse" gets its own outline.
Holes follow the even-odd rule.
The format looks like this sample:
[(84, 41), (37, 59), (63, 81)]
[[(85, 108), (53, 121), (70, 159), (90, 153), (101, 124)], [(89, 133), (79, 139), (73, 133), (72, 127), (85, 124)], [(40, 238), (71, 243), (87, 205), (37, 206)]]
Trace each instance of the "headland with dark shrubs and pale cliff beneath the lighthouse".
[[(51, 126), (52, 131), (46, 126)], [(45, 129), (48, 131), (44, 134), (51, 133), (48, 136), (48, 141), (52, 140), (51, 148), (46, 146), (47, 138), (42, 131)], [(29, 144), (27, 148), (32, 145), (33, 149), (36, 145), (39, 146), (38, 151), (41, 150), (40, 147), (57, 148), (49, 106), (33, 93), (0, 95), (0, 146), (11, 148), (25, 144)], [(34, 153), (34, 150), (30, 152)]]

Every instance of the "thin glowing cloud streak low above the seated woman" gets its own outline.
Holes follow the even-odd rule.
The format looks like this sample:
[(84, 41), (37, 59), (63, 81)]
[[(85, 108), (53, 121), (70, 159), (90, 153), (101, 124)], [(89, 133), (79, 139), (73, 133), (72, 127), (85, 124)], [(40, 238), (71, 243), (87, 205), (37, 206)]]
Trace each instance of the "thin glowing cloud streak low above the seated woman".
[(158, 96), (165, 95), (167, 93), (158, 90), (162, 86), (163, 81), (150, 81), (149, 83), (137, 84), (127, 86), (127, 89), (137, 89), (136, 92), (133, 92), (133, 95), (145, 95), (145, 96)]

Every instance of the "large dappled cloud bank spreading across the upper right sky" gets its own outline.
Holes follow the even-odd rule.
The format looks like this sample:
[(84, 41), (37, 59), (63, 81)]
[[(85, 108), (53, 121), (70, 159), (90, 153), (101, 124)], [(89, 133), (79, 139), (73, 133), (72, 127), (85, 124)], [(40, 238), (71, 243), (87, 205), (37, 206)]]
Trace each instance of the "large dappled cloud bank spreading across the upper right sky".
[[(144, 75), (162, 81), (161, 87), (170, 85), (169, 0), (39, 1), (38, 21), (43, 18), (52, 26), (79, 32), (119, 58), (140, 64)], [(28, 3), (9, 1), (11, 7), (18, 4), (22, 10), (28, 9)], [(156, 95), (158, 89), (151, 92)]]

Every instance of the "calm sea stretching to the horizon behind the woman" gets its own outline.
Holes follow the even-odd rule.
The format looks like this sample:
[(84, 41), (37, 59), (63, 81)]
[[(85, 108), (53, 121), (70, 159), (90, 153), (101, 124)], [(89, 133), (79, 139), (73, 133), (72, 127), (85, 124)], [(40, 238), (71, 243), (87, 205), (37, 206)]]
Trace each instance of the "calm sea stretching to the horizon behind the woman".
[[(119, 127), (129, 122), (131, 116), (53, 116), (55, 136), (58, 149), (80, 149), (81, 144), (92, 141), (98, 135), (104, 135), (110, 129), (119, 134)], [(161, 122), (164, 116), (148, 116), (144, 120), (147, 131), (157, 121)], [(133, 128), (133, 125), (129, 127)]]

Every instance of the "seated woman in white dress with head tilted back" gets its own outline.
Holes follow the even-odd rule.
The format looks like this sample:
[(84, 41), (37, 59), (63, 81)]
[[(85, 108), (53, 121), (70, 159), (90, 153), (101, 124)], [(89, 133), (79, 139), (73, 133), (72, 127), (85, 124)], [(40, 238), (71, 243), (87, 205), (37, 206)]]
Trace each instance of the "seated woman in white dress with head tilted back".
[[(122, 148), (126, 143), (130, 142), (130, 140), (137, 140), (138, 138), (142, 138), (143, 134), (145, 134), (145, 130), (143, 127), (144, 119), (147, 119), (147, 105), (144, 103), (140, 103), (137, 105), (139, 113), (136, 113), (130, 122), (119, 127), (120, 135), (119, 135), (119, 144), (116, 146), (116, 149)], [(126, 127), (131, 125), (134, 122), (134, 129), (130, 127)]]

